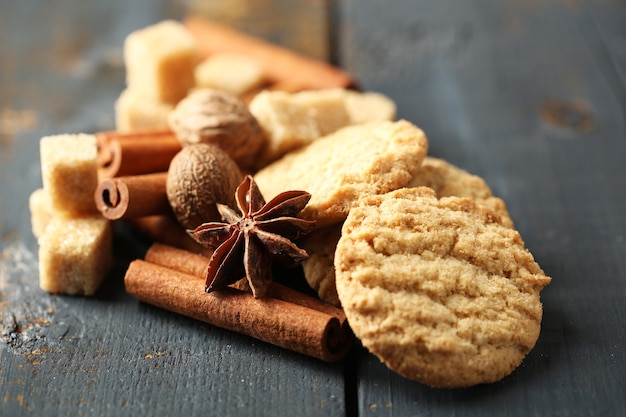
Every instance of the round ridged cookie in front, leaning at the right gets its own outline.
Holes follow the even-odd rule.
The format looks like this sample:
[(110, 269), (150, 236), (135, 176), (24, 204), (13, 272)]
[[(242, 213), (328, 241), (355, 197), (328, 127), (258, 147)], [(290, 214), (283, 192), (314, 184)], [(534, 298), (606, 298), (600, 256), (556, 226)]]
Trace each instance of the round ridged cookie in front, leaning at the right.
[(550, 282), (520, 234), (427, 187), (365, 197), (335, 252), (348, 322), (390, 369), (434, 387), (510, 374), (539, 336)]

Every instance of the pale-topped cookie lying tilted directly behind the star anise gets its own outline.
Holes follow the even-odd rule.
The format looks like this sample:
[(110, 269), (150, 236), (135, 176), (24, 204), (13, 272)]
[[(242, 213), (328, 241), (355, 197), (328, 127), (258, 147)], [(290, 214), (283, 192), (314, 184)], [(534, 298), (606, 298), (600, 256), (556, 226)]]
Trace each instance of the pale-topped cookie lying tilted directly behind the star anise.
[(404, 187), (427, 149), (424, 132), (406, 120), (365, 123), (287, 154), (254, 179), (268, 201), (287, 190), (311, 193), (301, 217), (323, 227), (344, 220), (359, 197)]

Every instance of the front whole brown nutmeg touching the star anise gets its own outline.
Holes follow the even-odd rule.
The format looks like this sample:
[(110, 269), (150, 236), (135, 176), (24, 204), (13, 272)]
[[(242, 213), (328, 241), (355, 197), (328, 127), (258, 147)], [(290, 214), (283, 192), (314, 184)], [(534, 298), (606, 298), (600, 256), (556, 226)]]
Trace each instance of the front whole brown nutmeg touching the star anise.
[(165, 190), (178, 222), (195, 229), (220, 219), (215, 203), (235, 207), (235, 189), (241, 170), (217, 145), (185, 146), (170, 163)]

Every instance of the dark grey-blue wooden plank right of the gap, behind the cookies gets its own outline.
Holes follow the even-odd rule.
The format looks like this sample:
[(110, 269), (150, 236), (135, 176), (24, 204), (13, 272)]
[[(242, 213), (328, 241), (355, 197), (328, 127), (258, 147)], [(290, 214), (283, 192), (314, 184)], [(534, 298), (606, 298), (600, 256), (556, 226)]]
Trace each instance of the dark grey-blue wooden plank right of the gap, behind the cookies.
[(434, 390), (363, 354), (359, 415), (626, 413), (626, 97), (623, 61), (598, 49), (621, 45), (626, 13), (592, 3), (341, 3), (339, 62), (395, 99), (432, 154), (487, 180), (554, 279), (511, 376)]

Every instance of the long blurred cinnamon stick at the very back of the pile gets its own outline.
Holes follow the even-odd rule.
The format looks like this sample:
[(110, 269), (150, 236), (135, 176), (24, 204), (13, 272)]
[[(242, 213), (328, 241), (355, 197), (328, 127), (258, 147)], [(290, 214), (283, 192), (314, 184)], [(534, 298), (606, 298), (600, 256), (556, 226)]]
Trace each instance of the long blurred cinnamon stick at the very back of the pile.
[(284, 82), (292, 91), (355, 86), (352, 77), (339, 68), (226, 25), (197, 16), (187, 17), (183, 24), (195, 38), (201, 54), (233, 52), (246, 55), (261, 66), (270, 82)]

